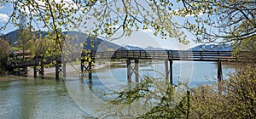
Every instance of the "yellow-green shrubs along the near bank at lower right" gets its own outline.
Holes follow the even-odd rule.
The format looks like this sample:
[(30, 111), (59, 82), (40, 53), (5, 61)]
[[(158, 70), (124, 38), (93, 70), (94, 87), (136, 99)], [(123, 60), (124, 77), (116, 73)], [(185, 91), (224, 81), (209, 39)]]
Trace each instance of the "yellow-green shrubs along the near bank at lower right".
[(103, 118), (253, 118), (255, 86), (255, 64), (245, 65), (228, 79), (196, 88), (143, 77), (141, 82), (106, 94), (115, 98), (99, 111), (104, 112)]

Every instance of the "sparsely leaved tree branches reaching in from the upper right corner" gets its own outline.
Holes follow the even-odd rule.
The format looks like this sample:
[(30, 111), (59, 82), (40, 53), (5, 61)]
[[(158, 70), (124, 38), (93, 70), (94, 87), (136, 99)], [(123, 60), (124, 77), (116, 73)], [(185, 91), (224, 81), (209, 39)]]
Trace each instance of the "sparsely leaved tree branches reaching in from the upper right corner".
[[(177, 15), (194, 15), (183, 27), (197, 36), (197, 42), (241, 42), (255, 37), (256, 2), (251, 0), (182, 0)], [(201, 15), (202, 14), (202, 15)]]

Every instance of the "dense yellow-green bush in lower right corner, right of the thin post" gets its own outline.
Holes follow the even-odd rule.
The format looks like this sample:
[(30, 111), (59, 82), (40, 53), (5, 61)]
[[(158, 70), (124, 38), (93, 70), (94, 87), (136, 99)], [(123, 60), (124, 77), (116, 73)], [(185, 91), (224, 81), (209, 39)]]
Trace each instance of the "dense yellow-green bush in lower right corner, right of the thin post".
[(217, 85), (200, 86), (191, 94), (191, 118), (254, 118), (256, 115), (256, 65), (247, 65)]

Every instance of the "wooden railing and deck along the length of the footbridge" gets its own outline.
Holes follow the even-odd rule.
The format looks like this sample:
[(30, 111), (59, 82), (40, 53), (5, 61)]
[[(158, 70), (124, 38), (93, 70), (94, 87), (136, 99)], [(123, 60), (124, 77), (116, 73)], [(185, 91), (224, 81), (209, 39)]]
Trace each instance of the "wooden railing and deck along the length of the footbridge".
[[(117, 50), (105, 52), (92, 52), (90, 54), (70, 54), (67, 57), (71, 60), (81, 56), (89, 56), (91, 59), (170, 59), (189, 61), (236, 61), (231, 51), (189, 51), (189, 50)], [(42, 58), (27, 59), (23, 63), (13, 61), (9, 68), (32, 66), (38, 64)], [(61, 55), (57, 57), (45, 57), (44, 64), (52, 61), (61, 62)]]

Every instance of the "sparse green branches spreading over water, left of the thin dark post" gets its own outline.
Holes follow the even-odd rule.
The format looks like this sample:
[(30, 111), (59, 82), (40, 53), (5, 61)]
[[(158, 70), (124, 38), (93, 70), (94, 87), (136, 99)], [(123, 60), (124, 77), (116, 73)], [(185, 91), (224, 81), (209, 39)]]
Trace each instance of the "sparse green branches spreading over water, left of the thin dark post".
[[(103, 113), (101, 117), (185, 118), (189, 116), (189, 96), (181, 96), (183, 93), (179, 92), (181, 100), (175, 101), (178, 97), (175, 90), (177, 87), (166, 84), (165, 81), (143, 77), (142, 82), (110, 94), (115, 98), (109, 101), (110, 106), (106, 105), (102, 110), (112, 110)], [(135, 106), (131, 106), (134, 104)], [(127, 106), (131, 106), (131, 109), (126, 109), (125, 112), (131, 110), (131, 114), (122, 111)]]

